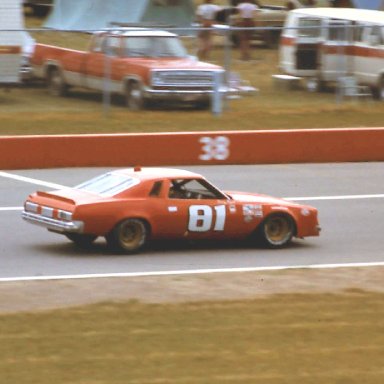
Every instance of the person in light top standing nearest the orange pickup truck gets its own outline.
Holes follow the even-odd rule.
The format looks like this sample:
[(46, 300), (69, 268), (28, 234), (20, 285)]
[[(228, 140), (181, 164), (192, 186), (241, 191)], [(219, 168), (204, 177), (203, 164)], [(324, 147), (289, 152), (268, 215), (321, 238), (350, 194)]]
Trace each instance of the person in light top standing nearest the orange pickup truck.
[[(221, 7), (213, 4), (213, 0), (204, 0), (203, 4), (199, 5), (196, 10), (197, 21), (203, 28), (211, 28), (217, 12)], [(203, 29), (199, 31), (199, 47), (197, 56), (199, 59), (207, 59), (212, 48), (212, 30)]]

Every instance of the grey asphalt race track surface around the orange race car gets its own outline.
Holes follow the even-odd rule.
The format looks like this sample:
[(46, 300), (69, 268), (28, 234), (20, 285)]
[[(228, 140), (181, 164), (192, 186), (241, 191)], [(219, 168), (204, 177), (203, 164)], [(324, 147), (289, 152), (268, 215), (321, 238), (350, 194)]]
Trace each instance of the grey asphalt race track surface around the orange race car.
[[(134, 256), (111, 255), (103, 239), (79, 250), (64, 236), (25, 223), (29, 193), (71, 186), (106, 169), (0, 172), (0, 278), (114, 274), (264, 266), (384, 262), (384, 164), (180, 167), (227, 190), (293, 198), (319, 209), (321, 236), (282, 250), (238, 244), (157, 244)], [(50, 184), (52, 183), (52, 184)]]

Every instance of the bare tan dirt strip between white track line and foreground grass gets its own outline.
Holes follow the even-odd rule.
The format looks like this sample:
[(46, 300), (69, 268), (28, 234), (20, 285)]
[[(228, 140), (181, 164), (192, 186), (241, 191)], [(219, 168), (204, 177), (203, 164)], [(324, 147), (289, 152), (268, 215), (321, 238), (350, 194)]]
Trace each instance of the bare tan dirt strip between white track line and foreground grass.
[(384, 267), (112, 277), (0, 284), (0, 313), (35, 312), (98, 302), (236, 300), (286, 293), (384, 292)]

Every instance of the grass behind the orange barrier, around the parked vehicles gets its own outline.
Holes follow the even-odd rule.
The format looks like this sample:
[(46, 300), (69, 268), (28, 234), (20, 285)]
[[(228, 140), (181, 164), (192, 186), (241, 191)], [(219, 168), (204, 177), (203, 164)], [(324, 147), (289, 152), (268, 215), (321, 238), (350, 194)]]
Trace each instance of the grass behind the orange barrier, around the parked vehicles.
[[(39, 27), (40, 19), (27, 18), (29, 28)], [(34, 32), (37, 41), (86, 49), (89, 37), (64, 32)], [(196, 42), (186, 42), (196, 52)], [(259, 89), (255, 96), (228, 102), (221, 116), (190, 107), (155, 107), (142, 112), (126, 109), (124, 100), (112, 99), (103, 108), (102, 95), (73, 89), (69, 97), (49, 95), (43, 84), (25, 85), (0, 93), (1, 134), (125, 133), (202, 130), (260, 130), (294, 128), (381, 127), (382, 102), (344, 101), (338, 103), (332, 92), (310, 93), (277, 90), (271, 75), (278, 73), (277, 50), (255, 46), (253, 61), (238, 60), (231, 50), (230, 70), (238, 72)], [(216, 38), (211, 61), (224, 65), (222, 39)]]

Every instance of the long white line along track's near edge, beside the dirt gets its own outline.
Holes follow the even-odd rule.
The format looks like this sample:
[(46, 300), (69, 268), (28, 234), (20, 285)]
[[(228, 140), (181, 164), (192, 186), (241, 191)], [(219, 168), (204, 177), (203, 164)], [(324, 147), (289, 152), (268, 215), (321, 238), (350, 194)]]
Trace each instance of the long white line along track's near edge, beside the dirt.
[(346, 263), (346, 264), (310, 264), (310, 265), (289, 265), (276, 267), (250, 267), (250, 268), (218, 268), (218, 269), (191, 269), (180, 271), (158, 271), (158, 272), (130, 272), (130, 273), (104, 273), (87, 275), (63, 275), (63, 276), (31, 276), (31, 277), (4, 277), (0, 283), (17, 281), (42, 281), (42, 280), (74, 280), (74, 279), (102, 279), (117, 277), (150, 277), (150, 276), (174, 276), (174, 275), (198, 275), (211, 273), (234, 273), (234, 272), (268, 272), (284, 271), (295, 269), (336, 269), (336, 268), (365, 268), (383, 267), (384, 261), (372, 263)]

